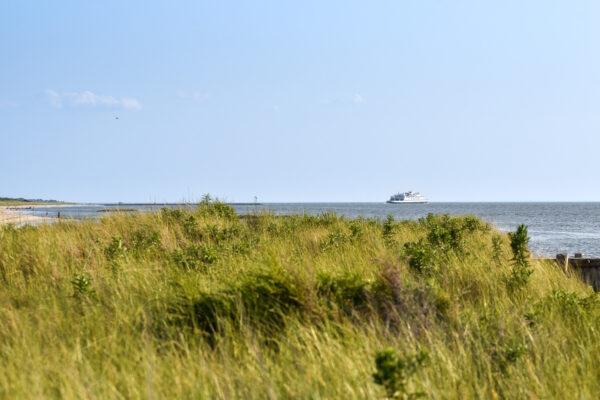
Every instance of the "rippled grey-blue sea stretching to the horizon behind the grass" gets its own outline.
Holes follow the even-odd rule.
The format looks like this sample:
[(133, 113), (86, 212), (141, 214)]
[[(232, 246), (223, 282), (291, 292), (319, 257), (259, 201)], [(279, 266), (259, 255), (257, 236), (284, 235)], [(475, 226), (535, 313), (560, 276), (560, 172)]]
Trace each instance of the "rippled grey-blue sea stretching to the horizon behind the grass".
[[(142, 211), (158, 210), (162, 205), (99, 204), (72, 207), (52, 207), (27, 210), (34, 215), (71, 218), (98, 218), (101, 210), (118, 208)], [(184, 207), (170, 204), (169, 207)], [(392, 214), (397, 220), (417, 219), (434, 214), (474, 215), (490, 222), (501, 231), (514, 230), (526, 224), (531, 236), (530, 249), (537, 256), (554, 257), (557, 253), (585, 253), (600, 257), (600, 203), (265, 203), (233, 205), (238, 214), (268, 211), (274, 214), (320, 214), (334, 212), (349, 218), (385, 218)]]

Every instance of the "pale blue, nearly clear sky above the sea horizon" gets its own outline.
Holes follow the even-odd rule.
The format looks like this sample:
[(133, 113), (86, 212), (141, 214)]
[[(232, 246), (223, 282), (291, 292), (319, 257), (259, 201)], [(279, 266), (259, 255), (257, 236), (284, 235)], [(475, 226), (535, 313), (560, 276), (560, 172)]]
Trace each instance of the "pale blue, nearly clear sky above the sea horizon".
[(598, 201), (599, 18), (596, 1), (3, 1), (0, 196)]

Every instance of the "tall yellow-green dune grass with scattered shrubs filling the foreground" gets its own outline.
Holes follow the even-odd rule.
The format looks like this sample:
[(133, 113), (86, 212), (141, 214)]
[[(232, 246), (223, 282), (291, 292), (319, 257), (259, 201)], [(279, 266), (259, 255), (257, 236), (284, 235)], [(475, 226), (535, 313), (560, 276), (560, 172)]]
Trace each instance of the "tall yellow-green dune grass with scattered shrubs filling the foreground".
[(0, 371), (0, 398), (598, 398), (600, 299), (471, 217), (6, 226)]

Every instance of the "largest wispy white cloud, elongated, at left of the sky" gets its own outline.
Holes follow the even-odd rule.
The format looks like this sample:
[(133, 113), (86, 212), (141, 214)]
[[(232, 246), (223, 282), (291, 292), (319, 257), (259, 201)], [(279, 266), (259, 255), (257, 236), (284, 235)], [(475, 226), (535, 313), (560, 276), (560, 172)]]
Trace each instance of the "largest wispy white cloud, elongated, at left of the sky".
[(98, 95), (89, 90), (83, 92), (62, 92), (46, 90), (46, 96), (50, 105), (54, 108), (69, 107), (108, 107), (123, 108), (127, 110), (139, 110), (142, 108), (140, 102), (133, 97), (113, 97)]

